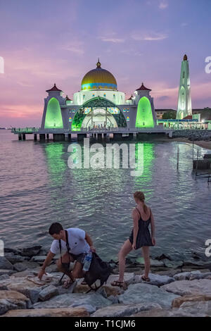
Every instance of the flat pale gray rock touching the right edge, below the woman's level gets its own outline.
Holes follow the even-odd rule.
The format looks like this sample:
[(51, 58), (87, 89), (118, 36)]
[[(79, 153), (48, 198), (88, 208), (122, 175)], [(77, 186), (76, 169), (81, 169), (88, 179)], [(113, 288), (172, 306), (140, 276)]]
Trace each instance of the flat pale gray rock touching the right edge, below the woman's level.
[(211, 280), (176, 280), (170, 284), (163, 285), (160, 289), (165, 289), (167, 292), (179, 294), (180, 296), (191, 294), (211, 295)]

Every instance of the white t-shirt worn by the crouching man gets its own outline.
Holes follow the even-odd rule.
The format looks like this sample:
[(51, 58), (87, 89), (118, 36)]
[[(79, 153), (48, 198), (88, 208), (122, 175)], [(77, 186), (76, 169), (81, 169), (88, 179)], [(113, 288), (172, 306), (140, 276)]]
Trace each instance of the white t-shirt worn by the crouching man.
[[(79, 229), (78, 227), (69, 227), (68, 229), (64, 229), (68, 231), (68, 242), (70, 246), (70, 253), (78, 255), (82, 253), (88, 253), (89, 251), (89, 244), (85, 240), (85, 231)], [(62, 251), (68, 251), (66, 242), (62, 239), (60, 241)], [(51, 244), (51, 253), (58, 254), (59, 249), (59, 241), (58, 239), (54, 239)]]

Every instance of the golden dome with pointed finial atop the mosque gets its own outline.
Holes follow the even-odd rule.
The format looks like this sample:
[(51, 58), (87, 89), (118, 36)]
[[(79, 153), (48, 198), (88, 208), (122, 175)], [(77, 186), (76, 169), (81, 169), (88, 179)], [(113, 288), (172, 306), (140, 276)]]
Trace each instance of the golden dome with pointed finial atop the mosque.
[(90, 70), (82, 79), (84, 89), (113, 89), (117, 90), (117, 81), (108, 70), (101, 68), (101, 63), (96, 63), (96, 69)]

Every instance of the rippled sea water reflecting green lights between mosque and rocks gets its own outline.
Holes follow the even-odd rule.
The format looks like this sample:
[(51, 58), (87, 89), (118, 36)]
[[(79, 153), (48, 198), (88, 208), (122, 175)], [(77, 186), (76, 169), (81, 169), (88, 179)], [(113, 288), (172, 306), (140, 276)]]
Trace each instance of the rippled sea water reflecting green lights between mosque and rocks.
[[(143, 175), (132, 177), (131, 169), (71, 170), (68, 142), (19, 142), (8, 130), (0, 130), (0, 139), (0, 239), (6, 247), (49, 248), (48, 228), (58, 221), (89, 232), (102, 258), (116, 258), (132, 230), (133, 192), (142, 190), (155, 218), (151, 255), (204, 253), (211, 185), (192, 174), (191, 144), (144, 142)], [(201, 155), (206, 151), (199, 147)]]

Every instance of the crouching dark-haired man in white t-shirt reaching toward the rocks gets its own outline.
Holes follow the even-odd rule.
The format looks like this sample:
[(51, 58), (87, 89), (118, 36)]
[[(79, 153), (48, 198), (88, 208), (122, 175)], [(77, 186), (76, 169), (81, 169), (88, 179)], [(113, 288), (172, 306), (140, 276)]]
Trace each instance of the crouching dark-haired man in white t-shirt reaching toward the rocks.
[[(70, 253), (68, 253), (67, 241), (65, 230), (68, 232), (68, 244), (70, 246)], [(75, 278), (82, 278), (85, 275), (85, 271), (83, 271), (83, 261), (84, 257), (88, 253), (89, 250), (96, 251), (91, 237), (82, 229), (78, 227), (69, 227), (68, 229), (63, 229), (63, 226), (60, 223), (53, 223), (49, 227), (49, 234), (53, 237), (53, 242), (51, 244), (51, 249), (49, 254), (46, 257), (46, 260), (39, 271), (38, 277), (41, 280), (41, 277), (45, 274), (46, 266), (49, 266), (53, 256), (58, 254), (60, 251), (59, 247), (59, 239), (61, 244), (61, 249), (65, 250), (65, 254), (63, 254), (62, 258), (59, 258), (56, 261), (58, 270), (61, 273), (65, 273), (68, 275), (69, 279), (65, 282), (64, 287), (68, 288), (70, 285), (75, 282)], [(62, 261), (61, 261), (62, 260)], [(75, 266), (72, 271), (68, 270), (68, 263), (75, 262)]]

